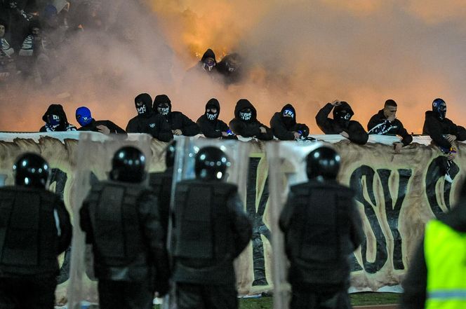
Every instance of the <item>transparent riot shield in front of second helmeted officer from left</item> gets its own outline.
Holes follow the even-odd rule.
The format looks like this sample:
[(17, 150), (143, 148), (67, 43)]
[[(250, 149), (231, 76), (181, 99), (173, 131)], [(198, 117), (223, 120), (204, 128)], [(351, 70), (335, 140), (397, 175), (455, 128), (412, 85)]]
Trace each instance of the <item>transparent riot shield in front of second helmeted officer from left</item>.
[(147, 172), (152, 164), (151, 140), (149, 135), (142, 134), (124, 137), (82, 132), (79, 135), (72, 186), (73, 239), (68, 285), (69, 309), (88, 308), (90, 303), (98, 303), (92, 248), (86, 245), (85, 233), (79, 226), (82, 202), (96, 181), (108, 179), (114, 153), (123, 146), (135, 146), (145, 154)]

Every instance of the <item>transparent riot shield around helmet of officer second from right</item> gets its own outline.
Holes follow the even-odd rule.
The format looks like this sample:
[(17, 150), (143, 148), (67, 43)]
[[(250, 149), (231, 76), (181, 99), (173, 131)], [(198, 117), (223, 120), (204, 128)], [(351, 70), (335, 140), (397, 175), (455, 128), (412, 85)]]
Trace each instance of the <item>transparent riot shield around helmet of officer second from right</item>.
[[(180, 137), (176, 139), (175, 164), (173, 168), (173, 185), (171, 198), (171, 211), (175, 209), (174, 195), (176, 184), (185, 179), (194, 179), (194, 162), (196, 153), (205, 146), (215, 146), (221, 149), (229, 158), (230, 165), (227, 168), (227, 177), (223, 181), (238, 186), (239, 197), (243, 201), (246, 199), (246, 183), (249, 163), (249, 144), (232, 139), (205, 139), (193, 137)], [(168, 252), (171, 252), (172, 222), (168, 226)], [(168, 305), (170, 303), (170, 305)], [(170, 300), (164, 301), (163, 308), (175, 308), (173, 293)]]

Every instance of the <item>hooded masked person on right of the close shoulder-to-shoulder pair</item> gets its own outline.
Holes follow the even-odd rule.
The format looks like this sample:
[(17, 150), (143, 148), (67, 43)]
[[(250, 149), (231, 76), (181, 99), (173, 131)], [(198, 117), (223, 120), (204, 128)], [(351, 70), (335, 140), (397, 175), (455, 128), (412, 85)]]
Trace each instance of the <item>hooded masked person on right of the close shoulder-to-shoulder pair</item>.
[(167, 95), (157, 95), (154, 112), (163, 116), (174, 135), (194, 136), (200, 133), (199, 126), (180, 111), (171, 111), (171, 100)]

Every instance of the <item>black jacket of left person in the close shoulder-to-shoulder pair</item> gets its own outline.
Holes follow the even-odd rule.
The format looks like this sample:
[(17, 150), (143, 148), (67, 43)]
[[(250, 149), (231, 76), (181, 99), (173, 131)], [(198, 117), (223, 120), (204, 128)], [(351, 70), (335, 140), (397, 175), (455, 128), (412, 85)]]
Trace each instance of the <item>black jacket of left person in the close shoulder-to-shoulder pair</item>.
[(128, 121), (126, 132), (147, 133), (162, 142), (170, 142), (173, 139), (170, 125), (163, 116), (156, 113), (135, 116)]

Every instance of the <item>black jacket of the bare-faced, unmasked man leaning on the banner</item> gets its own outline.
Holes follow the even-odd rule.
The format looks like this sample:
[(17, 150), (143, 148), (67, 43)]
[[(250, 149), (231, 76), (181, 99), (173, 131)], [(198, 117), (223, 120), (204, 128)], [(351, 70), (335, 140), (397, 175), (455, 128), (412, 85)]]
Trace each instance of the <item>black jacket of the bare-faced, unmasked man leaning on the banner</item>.
[(367, 130), (368, 134), (399, 135), (402, 138), (401, 142), (403, 146), (413, 142), (413, 137), (408, 134), (403, 123), (396, 118), (392, 123), (387, 121), (387, 117), (383, 114), (383, 109), (380, 109), (377, 114), (371, 117), (367, 124)]

